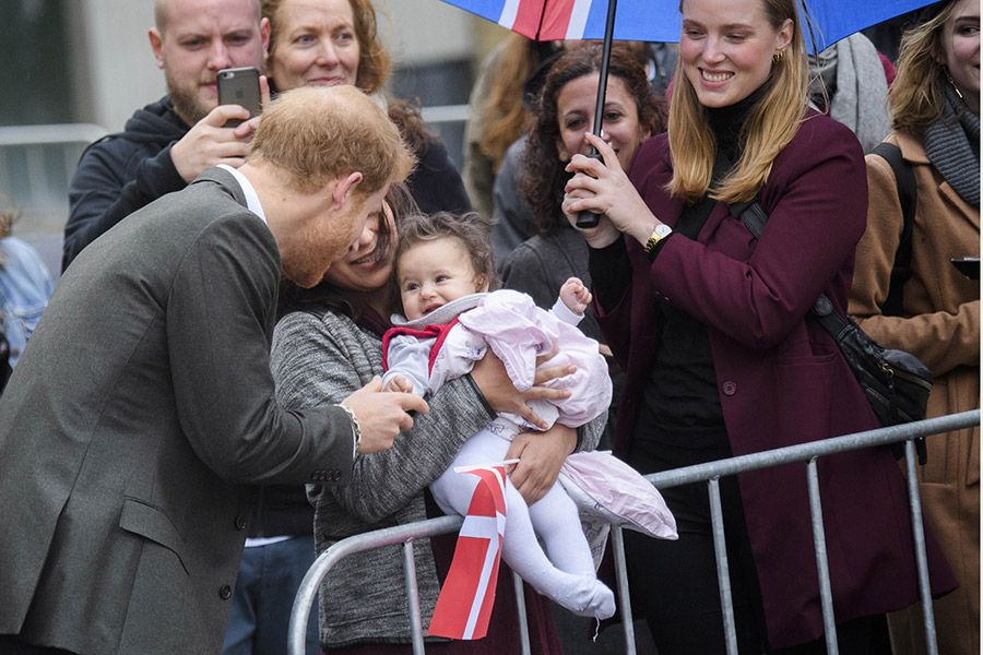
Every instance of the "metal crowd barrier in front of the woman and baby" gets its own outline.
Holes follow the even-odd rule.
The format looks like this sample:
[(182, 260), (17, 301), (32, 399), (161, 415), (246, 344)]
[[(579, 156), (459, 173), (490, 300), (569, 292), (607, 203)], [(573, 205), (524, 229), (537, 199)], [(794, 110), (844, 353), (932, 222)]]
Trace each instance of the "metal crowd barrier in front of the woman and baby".
[[(827, 653), (838, 655), (836, 618), (833, 617), (832, 593), (829, 583), (829, 567), (826, 559), (826, 534), (822, 527), (822, 507), (819, 498), (819, 478), (816, 461), (826, 455), (885, 445), (904, 441), (904, 461), (908, 477), (908, 496), (911, 504), (912, 532), (914, 536), (915, 557), (919, 575), (919, 590), (921, 606), (924, 615), (925, 636), (928, 655), (938, 655), (936, 643), (935, 618), (932, 611), (932, 594), (928, 584), (928, 564), (925, 553), (925, 533), (922, 524), (922, 503), (919, 495), (919, 481), (915, 465), (914, 439), (929, 437), (941, 432), (949, 432), (980, 425), (980, 410), (963, 412), (929, 418), (926, 420), (879, 428), (867, 432), (857, 432), (844, 437), (834, 437), (813, 443), (803, 443), (787, 448), (765, 451), (750, 455), (742, 455), (676, 468), (663, 473), (646, 476), (659, 489), (667, 489), (679, 485), (706, 481), (710, 491), (710, 511), (713, 528), (713, 543), (716, 552), (718, 580), (720, 582), (721, 606), (724, 614), (724, 634), (727, 644), (727, 655), (737, 654), (737, 636), (734, 626), (734, 606), (731, 598), (731, 584), (727, 569), (726, 544), (724, 540), (723, 512), (720, 501), (720, 478), (735, 475), (746, 471), (756, 471), (783, 464), (804, 462), (809, 490), (809, 509), (813, 517), (813, 540), (816, 549), (816, 563), (819, 572), (819, 595), (822, 606), (822, 620), (826, 631)], [(460, 516), (442, 516), (430, 519), (408, 525), (401, 525), (386, 529), (375, 531), (342, 539), (334, 546), (322, 552), (300, 583), (297, 596), (294, 599), (294, 608), (291, 614), (289, 632), (287, 634), (287, 653), (289, 655), (303, 655), (305, 652), (305, 634), (307, 620), (310, 616), (311, 605), (320, 586), (321, 580), (332, 567), (348, 555), (391, 546), (403, 545), (403, 572), (406, 585), (406, 598), (410, 606), (410, 622), (413, 629), (414, 655), (425, 653), (423, 627), (421, 624), (419, 594), (416, 586), (416, 563), (413, 558), (413, 541), (435, 535), (457, 532), (463, 520)], [(623, 617), (631, 616), (631, 603), (628, 594), (628, 576), (625, 564), (625, 545), (620, 528), (612, 529), (612, 552), (614, 555), (615, 573), (619, 608)], [(529, 626), (524, 611), (524, 598), (522, 594), (522, 581), (514, 575), (516, 597), (520, 616), (520, 638), (523, 655), (530, 653)], [(635, 655), (635, 629), (630, 620), (621, 621), (625, 631), (626, 652)]]

